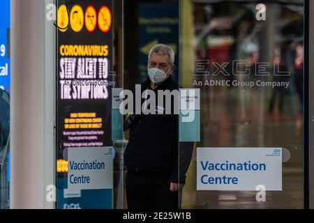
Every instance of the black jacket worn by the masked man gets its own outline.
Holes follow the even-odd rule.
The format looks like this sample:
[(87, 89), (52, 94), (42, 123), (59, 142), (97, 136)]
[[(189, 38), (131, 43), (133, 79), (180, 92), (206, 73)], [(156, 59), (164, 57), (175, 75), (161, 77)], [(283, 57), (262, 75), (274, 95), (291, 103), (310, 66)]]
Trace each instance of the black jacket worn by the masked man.
[[(151, 90), (149, 78), (141, 84), (142, 92), (147, 89)], [(193, 143), (180, 144), (179, 146), (179, 117), (173, 113), (173, 98), (171, 103), (172, 114), (158, 114), (157, 112), (157, 110), (161, 112), (163, 108), (166, 109), (165, 103), (161, 111), (160, 108), (157, 109), (158, 90), (173, 91), (176, 89), (178, 89), (178, 86), (170, 76), (154, 89), (156, 114), (135, 116), (135, 120), (130, 125), (130, 139), (124, 155), (126, 167), (129, 171), (168, 172), (170, 173), (170, 182), (185, 183)], [(142, 100), (142, 105), (143, 103), (144, 100)]]

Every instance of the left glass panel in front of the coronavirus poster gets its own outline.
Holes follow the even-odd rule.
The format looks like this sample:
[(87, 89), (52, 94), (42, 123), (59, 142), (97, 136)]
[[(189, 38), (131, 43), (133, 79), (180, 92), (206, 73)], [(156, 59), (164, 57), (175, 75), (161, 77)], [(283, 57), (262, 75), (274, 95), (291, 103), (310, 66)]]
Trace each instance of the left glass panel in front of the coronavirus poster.
[(122, 208), (123, 1), (58, 3), (57, 208)]

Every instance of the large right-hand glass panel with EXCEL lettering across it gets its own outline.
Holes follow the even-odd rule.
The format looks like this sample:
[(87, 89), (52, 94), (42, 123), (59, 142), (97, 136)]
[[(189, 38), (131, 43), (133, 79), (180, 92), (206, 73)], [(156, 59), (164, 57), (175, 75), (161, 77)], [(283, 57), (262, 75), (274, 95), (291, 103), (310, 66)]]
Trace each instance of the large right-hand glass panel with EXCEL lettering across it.
[[(259, 6), (251, 1), (180, 3), (180, 84), (200, 89), (200, 142), (195, 142), (182, 208), (303, 208), (304, 1)], [(222, 162), (227, 162), (226, 148), (232, 148), (239, 160), (252, 153), (261, 162), (270, 162), (270, 157), (258, 156), (257, 151), (272, 148), (276, 156), (278, 148), (282, 164), (277, 160), (275, 166), (282, 167), (282, 175), (267, 167), (278, 171), (269, 174), (278, 187), (282, 176), (282, 190), (266, 188), (263, 194), (235, 184), (226, 190), (217, 181), (207, 181), (206, 189), (197, 190), (197, 164), (202, 160), (197, 148), (211, 158), (218, 154), (216, 160), (225, 159)], [(210, 189), (214, 184), (218, 189)]]

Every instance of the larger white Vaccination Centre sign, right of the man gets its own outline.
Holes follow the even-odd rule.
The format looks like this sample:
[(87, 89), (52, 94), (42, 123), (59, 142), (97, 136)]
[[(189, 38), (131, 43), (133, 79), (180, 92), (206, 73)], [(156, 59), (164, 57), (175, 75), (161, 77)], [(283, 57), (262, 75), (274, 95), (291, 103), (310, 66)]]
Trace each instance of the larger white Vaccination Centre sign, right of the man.
[(197, 148), (197, 190), (282, 190), (281, 148)]

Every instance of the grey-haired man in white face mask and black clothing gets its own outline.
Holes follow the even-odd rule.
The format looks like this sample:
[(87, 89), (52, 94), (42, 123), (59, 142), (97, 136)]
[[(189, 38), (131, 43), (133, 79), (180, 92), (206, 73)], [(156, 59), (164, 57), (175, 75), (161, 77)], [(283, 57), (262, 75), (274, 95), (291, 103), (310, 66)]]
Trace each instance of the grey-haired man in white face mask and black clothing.
[[(130, 124), (130, 139), (125, 152), (126, 196), (128, 208), (179, 208), (179, 188), (185, 183), (193, 144), (180, 144), (178, 115), (171, 102), (159, 105), (158, 91), (177, 91), (172, 80), (174, 51), (156, 45), (149, 53), (149, 77), (141, 84), (141, 93), (154, 91), (156, 109), (153, 114), (137, 114)], [(150, 95), (151, 97), (151, 95)], [(178, 100), (177, 100), (178, 101)], [(142, 100), (141, 109), (149, 109)], [(166, 114), (171, 106), (171, 114)]]

